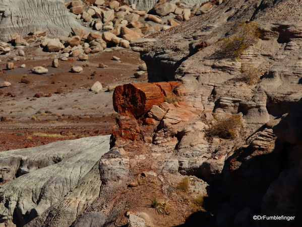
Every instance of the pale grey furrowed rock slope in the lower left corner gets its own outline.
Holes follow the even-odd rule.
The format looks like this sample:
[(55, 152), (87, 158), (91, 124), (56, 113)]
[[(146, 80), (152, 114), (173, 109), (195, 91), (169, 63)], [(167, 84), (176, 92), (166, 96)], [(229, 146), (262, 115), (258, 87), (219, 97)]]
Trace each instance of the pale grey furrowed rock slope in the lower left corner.
[(9, 170), (2, 179), (10, 182), (0, 191), (3, 201), (12, 204), (0, 203), (5, 224), (24, 225), (39, 215), (27, 226), (70, 226), (98, 197), (96, 163), (108, 149), (109, 136), (95, 136), (2, 152), (1, 169)]

